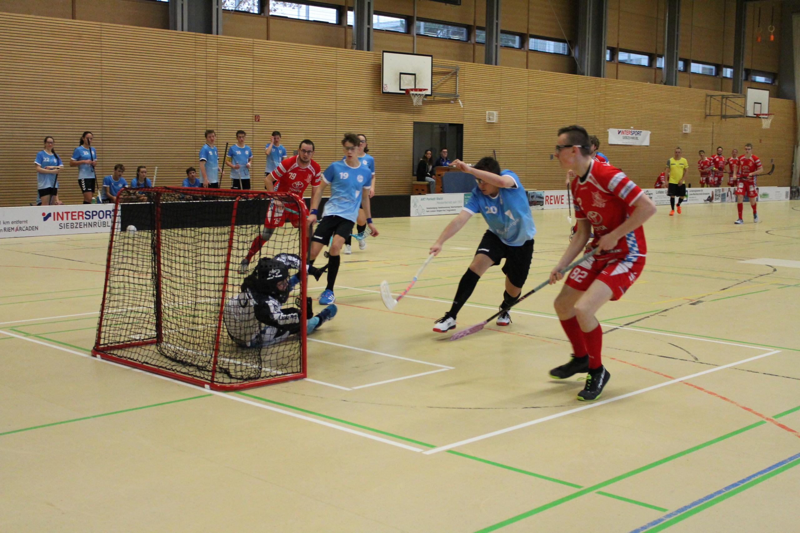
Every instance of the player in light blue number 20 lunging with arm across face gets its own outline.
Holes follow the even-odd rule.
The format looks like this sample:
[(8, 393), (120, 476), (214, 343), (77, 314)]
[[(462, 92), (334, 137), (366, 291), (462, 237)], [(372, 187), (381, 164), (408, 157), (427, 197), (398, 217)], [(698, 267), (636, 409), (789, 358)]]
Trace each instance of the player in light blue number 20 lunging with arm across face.
[(472, 189), (472, 197), (462, 208), (442, 235), (430, 247), (430, 253), (438, 255), (442, 245), (450, 237), (458, 233), (476, 213), (483, 215), (483, 220), (489, 229), (483, 234), (478, 251), (458, 283), (453, 305), (434, 324), (434, 332), (446, 332), (455, 328), (455, 318), (466, 300), (474, 291), (475, 285), (481, 279), (483, 272), (493, 265), (500, 265), (500, 260), (506, 259), (502, 272), (506, 274), (506, 291), (503, 292), (503, 301), (498, 315), (498, 326), (507, 326), (511, 317), (507, 309), (517, 301), (522, 285), (528, 278), (530, 259), (534, 253), (534, 235), (536, 226), (534, 218), (530, 215), (528, 193), (522, 187), (517, 175), (510, 170), (501, 172), (500, 165), (494, 157), (483, 157), (474, 167), (463, 161), (455, 160), (452, 166), (473, 174), (478, 185)]

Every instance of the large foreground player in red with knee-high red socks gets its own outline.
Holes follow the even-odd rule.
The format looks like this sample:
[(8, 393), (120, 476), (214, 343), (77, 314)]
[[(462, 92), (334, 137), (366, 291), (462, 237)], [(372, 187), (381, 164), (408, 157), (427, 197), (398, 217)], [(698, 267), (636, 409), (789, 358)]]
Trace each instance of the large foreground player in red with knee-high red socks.
[(573, 348), (569, 363), (550, 371), (564, 380), (589, 372), (578, 400), (597, 400), (610, 374), (602, 365), (602, 328), (595, 313), (609, 300), (619, 300), (644, 268), (647, 244), (642, 224), (656, 212), (653, 201), (622, 170), (594, 161), (589, 135), (579, 125), (558, 130), (555, 157), (562, 169), (576, 177), (570, 185), (578, 233), (550, 272), (550, 284), (562, 279), (558, 272), (582, 253), (594, 231), (591, 246), (600, 250), (575, 267), (555, 299), (555, 311)]

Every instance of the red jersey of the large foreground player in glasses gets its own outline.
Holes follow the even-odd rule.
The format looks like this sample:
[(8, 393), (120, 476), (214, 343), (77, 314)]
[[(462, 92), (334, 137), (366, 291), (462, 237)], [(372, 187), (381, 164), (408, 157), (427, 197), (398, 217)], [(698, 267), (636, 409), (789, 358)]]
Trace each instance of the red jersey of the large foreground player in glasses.
[[(599, 161), (592, 161), (584, 177), (572, 181), (575, 217), (588, 219), (592, 225), (594, 247), (600, 237), (618, 228), (633, 213), (634, 201), (644, 194), (622, 170)], [(636, 261), (647, 255), (645, 230), (639, 226), (617, 241), (614, 249), (598, 253), (596, 258), (624, 258)]]

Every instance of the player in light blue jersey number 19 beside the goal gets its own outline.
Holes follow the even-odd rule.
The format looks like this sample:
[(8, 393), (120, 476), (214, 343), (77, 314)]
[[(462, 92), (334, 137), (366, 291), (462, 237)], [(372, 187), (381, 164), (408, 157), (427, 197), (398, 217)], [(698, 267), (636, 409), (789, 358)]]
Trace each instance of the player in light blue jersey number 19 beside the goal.
[[(328, 253), (328, 284), (326, 289), (319, 296), (319, 303), (323, 305), (333, 304), (334, 284), (336, 275), (339, 272), (341, 257), (339, 253), (345, 238), (353, 232), (353, 225), (358, 218), (359, 207), (366, 213), (366, 223), (370, 227), (373, 237), (378, 237), (378, 230), (372, 223), (370, 212), (370, 195), (364, 194), (369, 191), (372, 183), (372, 173), (369, 168), (358, 161), (358, 137), (354, 133), (345, 133), (342, 139), (342, 151), (345, 158), (342, 161), (334, 161), (322, 173), (322, 187), (314, 187), (311, 193), (311, 212), (310, 215), (316, 217), (319, 208), (319, 201), (322, 200), (322, 190), (326, 185), (330, 185), (330, 198), (322, 211), (322, 218), (314, 231), (311, 239), (311, 253), (308, 261), (309, 265), (314, 265), (314, 260), (322, 251), (322, 247), (330, 242)], [(313, 220), (311, 220), (313, 222)], [(333, 237), (333, 241), (330, 238)]]

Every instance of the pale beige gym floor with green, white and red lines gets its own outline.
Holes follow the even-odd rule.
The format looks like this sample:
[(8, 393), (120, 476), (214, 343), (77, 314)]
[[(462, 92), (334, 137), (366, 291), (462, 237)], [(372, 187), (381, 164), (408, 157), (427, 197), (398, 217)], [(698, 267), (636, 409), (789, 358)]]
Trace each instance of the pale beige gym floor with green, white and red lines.
[[(378, 285), (405, 288), (451, 217), (377, 221), (343, 257), (311, 379), (230, 394), (86, 357), (107, 236), (3, 239), (0, 530), (794, 531), (798, 205), (741, 226), (733, 205), (659, 208), (641, 279), (599, 316), (612, 377), (594, 404), (547, 376), (570, 352), (558, 287), (510, 327), (431, 331), (480, 217), (394, 312)], [(566, 211), (534, 220), (528, 288), (569, 233)], [(459, 328), (501, 296), (492, 268)]]

